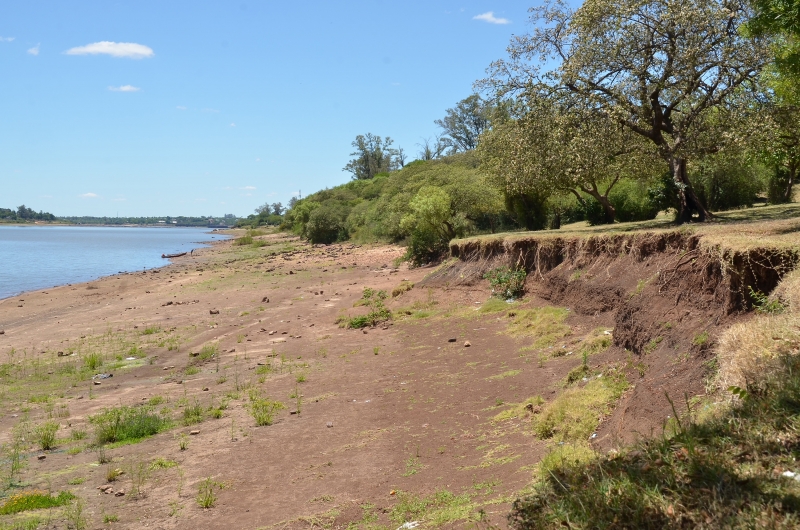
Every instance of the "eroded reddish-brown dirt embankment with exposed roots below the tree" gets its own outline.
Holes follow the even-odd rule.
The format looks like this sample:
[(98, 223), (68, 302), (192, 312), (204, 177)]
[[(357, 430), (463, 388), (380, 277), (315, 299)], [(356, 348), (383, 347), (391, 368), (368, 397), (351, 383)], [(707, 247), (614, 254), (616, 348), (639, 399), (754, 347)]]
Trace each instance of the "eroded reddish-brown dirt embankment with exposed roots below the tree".
[(603, 423), (601, 447), (660, 432), (674, 414), (669, 399), (685, 410), (706, 393), (717, 337), (748, 318), (752, 292), (770, 293), (798, 262), (793, 252), (704, 245), (681, 231), (471, 239), (450, 251), (457, 261), (427, 285), (469, 286), (491, 268), (521, 267), (528, 292), (570, 308), (573, 319), (613, 325), (613, 346), (601, 362), (624, 363), (634, 385)]

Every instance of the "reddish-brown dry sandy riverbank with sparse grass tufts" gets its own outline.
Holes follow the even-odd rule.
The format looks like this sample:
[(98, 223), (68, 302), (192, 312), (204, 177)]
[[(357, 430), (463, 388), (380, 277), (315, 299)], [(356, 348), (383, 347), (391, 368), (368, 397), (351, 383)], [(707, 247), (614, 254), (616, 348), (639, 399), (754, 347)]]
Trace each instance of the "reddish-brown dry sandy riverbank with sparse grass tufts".
[[(0, 441), (48, 418), (60, 424), (55, 449), (27, 448), (21, 486), (6, 495), (69, 490), (85, 503), (88, 528), (505, 527), (511, 502), (552, 444), (534, 436), (532, 407), (508, 421), (494, 418), (561, 392), (582, 362), (572, 354), (578, 343), (614, 328), (612, 305), (572, 311), (566, 337), (534, 347), (536, 337), (509, 332), (505, 311), (480, 311), (491, 296), (487, 282), (420, 286), (431, 269), (394, 268), (399, 247), (258, 239), (264, 246), (222, 242), (160, 270), (0, 301)], [(391, 297), (403, 280), (418, 285)], [(365, 312), (356, 304), (365, 287), (390, 293), (395, 318), (367, 330), (340, 327), (340, 316)], [(540, 294), (515, 307), (569, 307), (552, 292)], [(691, 340), (665, 336), (656, 346)], [(204, 346), (216, 346), (216, 354), (201, 362), (192, 354)], [(627, 355), (629, 379), (638, 370), (641, 386), (658, 395), (637, 405), (632, 386), (624, 407), (603, 418), (596, 447), (662, 424), (670, 377), (690, 373), (676, 395), (702, 393), (703, 359), (681, 364), (673, 350), (647, 375), (623, 348), (592, 356), (598, 367), (621, 365)], [(103, 365), (89, 373), (92, 353)], [(113, 377), (91, 379), (100, 373)], [(253, 390), (286, 405), (272, 425), (255, 425)], [(98, 464), (90, 416), (147, 403), (173, 426), (109, 448), (112, 462)], [(195, 403), (202, 421), (185, 425), (184, 410)], [(213, 417), (210, 409), (223, 403)], [(140, 464), (149, 471), (137, 495)], [(109, 467), (126, 472), (103, 493)], [(204, 509), (196, 497), (209, 477), (216, 502)], [(42, 528), (65, 527), (58, 510), (37, 516)]]

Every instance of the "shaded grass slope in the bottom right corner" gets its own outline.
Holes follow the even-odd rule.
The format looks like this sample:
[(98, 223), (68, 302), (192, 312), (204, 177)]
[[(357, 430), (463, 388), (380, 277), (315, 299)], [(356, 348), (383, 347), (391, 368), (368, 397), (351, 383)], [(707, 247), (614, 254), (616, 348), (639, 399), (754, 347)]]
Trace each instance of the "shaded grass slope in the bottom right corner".
[(681, 405), (672, 432), (619, 454), (551, 458), (512, 527), (797, 528), (800, 358), (784, 364), (704, 421)]

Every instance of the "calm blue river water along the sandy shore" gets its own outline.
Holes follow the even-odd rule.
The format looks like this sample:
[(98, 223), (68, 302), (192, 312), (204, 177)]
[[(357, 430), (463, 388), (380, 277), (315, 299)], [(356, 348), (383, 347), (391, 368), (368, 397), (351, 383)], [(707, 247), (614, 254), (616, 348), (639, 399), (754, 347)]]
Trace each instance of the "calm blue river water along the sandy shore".
[(0, 299), (167, 265), (161, 254), (226, 239), (206, 228), (0, 226)]

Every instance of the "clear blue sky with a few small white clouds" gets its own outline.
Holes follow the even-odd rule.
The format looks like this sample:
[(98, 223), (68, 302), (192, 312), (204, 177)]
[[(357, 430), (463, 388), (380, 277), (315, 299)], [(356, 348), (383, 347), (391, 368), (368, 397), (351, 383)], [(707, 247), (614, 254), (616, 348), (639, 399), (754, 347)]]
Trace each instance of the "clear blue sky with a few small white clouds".
[(246, 216), (415, 158), (526, 33), (524, 2), (0, 3), (0, 207)]

